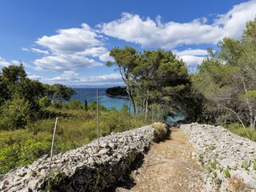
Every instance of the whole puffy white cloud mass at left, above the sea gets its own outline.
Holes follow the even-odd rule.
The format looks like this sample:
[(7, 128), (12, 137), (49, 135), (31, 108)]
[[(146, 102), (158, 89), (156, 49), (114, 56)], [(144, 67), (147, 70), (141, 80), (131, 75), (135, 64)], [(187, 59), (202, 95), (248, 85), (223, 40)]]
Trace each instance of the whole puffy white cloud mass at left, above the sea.
[(102, 36), (86, 23), (80, 28), (57, 30), (57, 34), (38, 38), (38, 46), (46, 50), (32, 48), (31, 51), (46, 54), (34, 61), (36, 70), (79, 70), (102, 66), (108, 50), (103, 46)]

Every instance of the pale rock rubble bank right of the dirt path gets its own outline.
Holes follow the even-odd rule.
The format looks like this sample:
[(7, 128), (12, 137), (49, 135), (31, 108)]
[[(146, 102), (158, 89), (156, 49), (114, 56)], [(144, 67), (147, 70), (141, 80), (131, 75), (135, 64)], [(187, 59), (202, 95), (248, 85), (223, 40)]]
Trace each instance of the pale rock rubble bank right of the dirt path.
[(206, 191), (256, 191), (256, 142), (222, 126), (182, 125), (206, 170)]

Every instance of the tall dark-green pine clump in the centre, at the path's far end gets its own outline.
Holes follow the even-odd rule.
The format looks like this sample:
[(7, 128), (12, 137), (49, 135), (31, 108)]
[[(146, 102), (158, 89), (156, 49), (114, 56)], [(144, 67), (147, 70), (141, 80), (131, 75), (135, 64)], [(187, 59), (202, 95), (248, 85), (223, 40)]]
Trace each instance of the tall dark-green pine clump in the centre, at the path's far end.
[[(187, 117), (194, 116), (191, 105), (194, 99), (190, 90), (190, 75), (185, 62), (171, 51), (145, 50), (139, 53), (133, 47), (115, 47), (110, 50), (134, 108), (134, 114), (145, 118), (158, 105), (164, 114), (186, 111)], [(196, 107), (195, 107), (196, 108)], [(191, 115), (190, 115), (191, 114)]]

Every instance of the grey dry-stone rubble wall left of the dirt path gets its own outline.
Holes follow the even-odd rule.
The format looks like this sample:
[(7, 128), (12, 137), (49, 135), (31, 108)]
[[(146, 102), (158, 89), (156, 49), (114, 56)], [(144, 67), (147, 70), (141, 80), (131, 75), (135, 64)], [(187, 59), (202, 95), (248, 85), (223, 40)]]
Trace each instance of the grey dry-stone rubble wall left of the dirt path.
[(111, 134), (64, 154), (43, 157), (29, 166), (18, 167), (0, 178), (0, 191), (102, 191), (122, 181), (138, 154), (150, 147), (154, 129)]

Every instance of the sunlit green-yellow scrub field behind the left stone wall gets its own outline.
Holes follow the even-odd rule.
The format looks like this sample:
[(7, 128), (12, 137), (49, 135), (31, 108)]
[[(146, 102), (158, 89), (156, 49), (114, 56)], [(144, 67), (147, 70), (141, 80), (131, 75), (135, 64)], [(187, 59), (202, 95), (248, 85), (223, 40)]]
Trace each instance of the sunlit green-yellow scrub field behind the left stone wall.
[[(72, 150), (97, 138), (96, 111), (54, 110), (59, 114), (54, 142), (54, 154)], [(62, 115), (64, 114), (64, 115)], [(0, 174), (34, 162), (43, 154), (50, 155), (55, 118), (41, 119), (28, 124), (24, 129), (0, 131)], [(137, 127), (144, 126), (144, 117), (138, 114)], [(112, 132), (134, 129), (134, 116), (126, 111), (102, 110), (100, 136)]]

